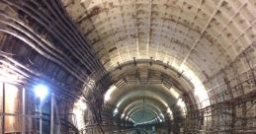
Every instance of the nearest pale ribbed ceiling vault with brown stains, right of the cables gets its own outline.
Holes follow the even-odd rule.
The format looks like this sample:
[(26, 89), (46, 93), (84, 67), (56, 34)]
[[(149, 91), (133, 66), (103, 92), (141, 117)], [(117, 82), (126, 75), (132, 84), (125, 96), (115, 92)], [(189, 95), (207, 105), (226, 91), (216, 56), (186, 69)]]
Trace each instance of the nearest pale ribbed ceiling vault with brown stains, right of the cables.
[(62, 1), (107, 69), (152, 57), (204, 81), (255, 41), (253, 0)]

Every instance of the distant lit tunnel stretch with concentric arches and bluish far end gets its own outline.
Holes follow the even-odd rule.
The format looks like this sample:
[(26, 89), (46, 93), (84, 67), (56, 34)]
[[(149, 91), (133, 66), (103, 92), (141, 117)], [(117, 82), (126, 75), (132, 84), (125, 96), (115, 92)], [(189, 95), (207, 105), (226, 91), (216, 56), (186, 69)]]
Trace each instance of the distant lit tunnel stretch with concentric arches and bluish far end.
[(181, 111), (177, 106), (178, 99), (169, 90), (161, 84), (128, 83), (113, 90), (108, 103), (115, 106), (121, 118), (132, 120), (134, 124), (161, 122), (165, 117), (170, 119), (173, 116), (170, 112), (179, 116), (180, 112), (176, 111)]

